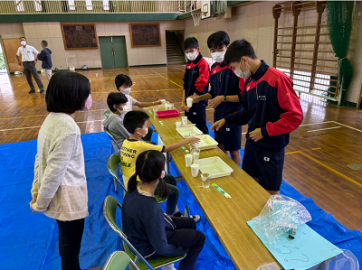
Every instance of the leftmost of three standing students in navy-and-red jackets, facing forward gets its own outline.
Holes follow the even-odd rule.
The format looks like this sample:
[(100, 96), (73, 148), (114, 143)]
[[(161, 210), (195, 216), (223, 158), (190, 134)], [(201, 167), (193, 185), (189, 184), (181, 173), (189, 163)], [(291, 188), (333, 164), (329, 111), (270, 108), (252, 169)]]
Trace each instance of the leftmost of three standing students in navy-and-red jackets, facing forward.
[(182, 95), (181, 109), (185, 116), (204, 134), (209, 134), (206, 126), (207, 101), (193, 104), (187, 107), (186, 98), (190, 96), (201, 96), (209, 90), (209, 64), (200, 53), (198, 42), (194, 37), (187, 38), (184, 42), (184, 49), (188, 62), (184, 76), (184, 91)]

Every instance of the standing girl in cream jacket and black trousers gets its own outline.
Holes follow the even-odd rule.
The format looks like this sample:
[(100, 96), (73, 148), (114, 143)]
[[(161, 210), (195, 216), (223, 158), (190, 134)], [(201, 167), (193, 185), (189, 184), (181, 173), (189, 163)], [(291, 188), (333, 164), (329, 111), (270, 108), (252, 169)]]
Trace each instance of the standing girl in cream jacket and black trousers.
[(39, 130), (30, 209), (57, 221), (62, 270), (80, 270), (84, 219), (89, 214), (81, 129), (74, 117), (91, 107), (90, 80), (79, 73), (58, 72), (49, 82), (45, 102), (50, 114)]

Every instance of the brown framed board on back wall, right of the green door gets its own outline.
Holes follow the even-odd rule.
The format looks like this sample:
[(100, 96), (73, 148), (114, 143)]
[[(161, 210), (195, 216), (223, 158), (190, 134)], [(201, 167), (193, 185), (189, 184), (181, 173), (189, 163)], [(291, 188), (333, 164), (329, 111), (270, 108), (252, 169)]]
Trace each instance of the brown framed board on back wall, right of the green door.
[(129, 23), (129, 32), (133, 48), (161, 46), (159, 23)]

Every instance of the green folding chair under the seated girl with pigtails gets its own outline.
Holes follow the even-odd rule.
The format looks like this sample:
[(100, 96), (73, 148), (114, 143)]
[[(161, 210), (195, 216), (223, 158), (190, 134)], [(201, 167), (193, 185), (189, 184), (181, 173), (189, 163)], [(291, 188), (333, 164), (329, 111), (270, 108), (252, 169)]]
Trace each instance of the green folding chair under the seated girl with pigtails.
[[(141, 256), (138, 250), (132, 246), (129, 242), (127, 236), (122, 232), (122, 230), (117, 226), (116, 223), (116, 210), (117, 208), (122, 209), (122, 206), (119, 204), (118, 200), (112, 196), (107, 196), (103, 202), (103, 215), (107, 220), (108, 224), (110, 224), (110, 228), (112, 228), (119, 237), (123, 240), (123, 246), (125, 248), (126, 253), (129, 255), (131, 260), (138, 266), (139, 270), (155, 270), (166, 265), (174, 264), (184, 257), (186, 254), (181, 256), (161, 256), (157, 259), (145, 259)], [(135, 256), (135, 255), (136, 256)], [(131, 269), (131, 267), (129, 267)]]

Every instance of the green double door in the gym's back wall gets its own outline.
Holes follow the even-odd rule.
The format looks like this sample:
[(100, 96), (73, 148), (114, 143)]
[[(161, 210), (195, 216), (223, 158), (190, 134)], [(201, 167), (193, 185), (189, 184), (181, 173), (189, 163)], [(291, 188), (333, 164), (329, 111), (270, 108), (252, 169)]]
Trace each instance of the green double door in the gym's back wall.
[(103, 69), (128, 67), (125, 37), (100, 37), (100, 58)]

